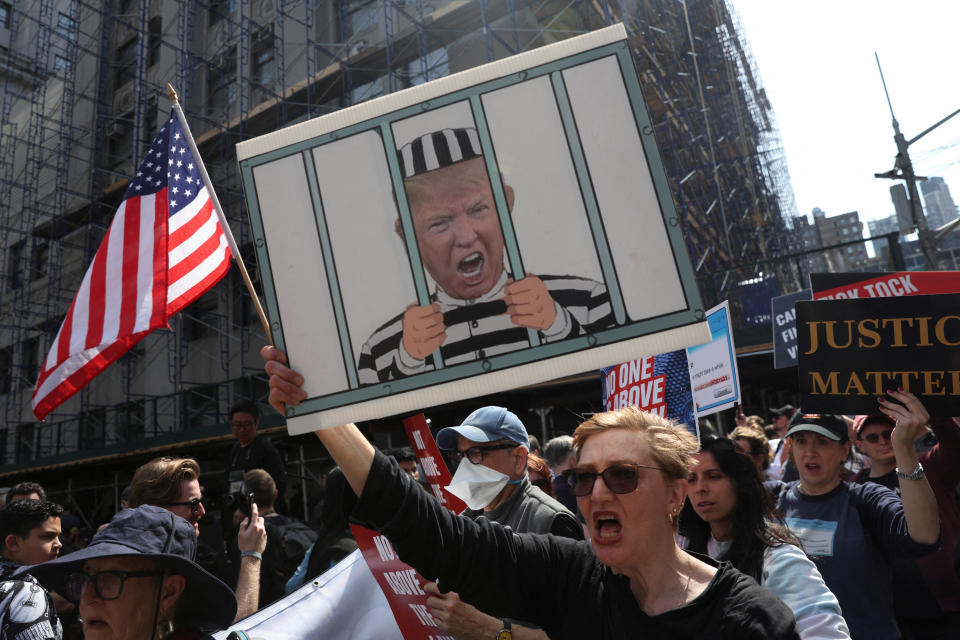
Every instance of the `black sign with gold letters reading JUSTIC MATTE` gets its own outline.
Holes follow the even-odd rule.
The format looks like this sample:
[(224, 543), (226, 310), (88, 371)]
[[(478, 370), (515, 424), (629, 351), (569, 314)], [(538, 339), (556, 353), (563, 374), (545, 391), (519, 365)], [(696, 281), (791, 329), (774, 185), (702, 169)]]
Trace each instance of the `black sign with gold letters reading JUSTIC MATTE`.
[(797, 303), (804, 411), (875, 413), (877, 397), (903, 388), (931, 415), (960, 398), (960, 294)]

